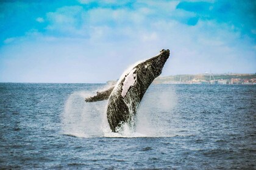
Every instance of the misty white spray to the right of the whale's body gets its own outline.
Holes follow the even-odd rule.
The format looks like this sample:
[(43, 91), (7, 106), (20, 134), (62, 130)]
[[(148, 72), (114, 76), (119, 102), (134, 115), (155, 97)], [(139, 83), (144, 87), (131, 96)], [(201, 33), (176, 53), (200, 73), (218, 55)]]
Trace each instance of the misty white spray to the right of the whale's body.
[[(178, 98), (174, 86), (163, 91), (165, 85), (150, 86), (141, 100), (137, 110), (136, 132), (148, 137), (169, 137), (173, 136), (174, 129), (168, 128), (168, 119), (174, 113), (173, 109)], [(166, 89), (166, 88), (165, 88)]]

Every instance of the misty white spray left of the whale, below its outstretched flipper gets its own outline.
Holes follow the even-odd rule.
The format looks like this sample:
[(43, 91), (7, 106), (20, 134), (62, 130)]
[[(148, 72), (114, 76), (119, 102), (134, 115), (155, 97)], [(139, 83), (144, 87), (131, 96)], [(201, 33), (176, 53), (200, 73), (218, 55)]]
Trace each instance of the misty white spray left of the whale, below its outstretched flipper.
[(102, 135), (102, 110), (106, 101), (85, 103), (90, 92), (73, 92), (65, 103), (62, 114), (63, 134), (77, 137), (99, 137)]

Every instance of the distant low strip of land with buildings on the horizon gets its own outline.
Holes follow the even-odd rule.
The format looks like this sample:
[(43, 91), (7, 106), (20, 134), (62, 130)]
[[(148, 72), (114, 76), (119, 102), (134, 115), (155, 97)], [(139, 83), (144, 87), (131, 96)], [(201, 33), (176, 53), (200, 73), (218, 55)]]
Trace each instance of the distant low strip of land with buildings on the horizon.
[[(115, 84), (116, 81), (108, 81)], [(157, 77), (153, 84), (256, 84), (256, 73), (203, 73)]]

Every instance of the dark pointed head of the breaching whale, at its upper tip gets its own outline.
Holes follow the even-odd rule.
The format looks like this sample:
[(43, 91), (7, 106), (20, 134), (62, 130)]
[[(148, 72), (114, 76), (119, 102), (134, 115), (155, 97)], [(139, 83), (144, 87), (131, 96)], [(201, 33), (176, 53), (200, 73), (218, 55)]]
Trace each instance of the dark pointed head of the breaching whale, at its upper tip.
[(162, 49), (157, 56), (150, 58), (149, 60), (144, 61), (144, 69), (150, 70), (152, 75), (158, 77), (162, 73), (163, 66), (165, 65), (166, 60), (169, 58), (170, 51), (169, 49)]

